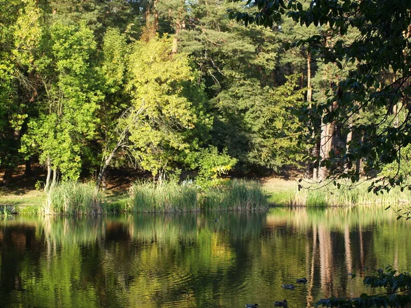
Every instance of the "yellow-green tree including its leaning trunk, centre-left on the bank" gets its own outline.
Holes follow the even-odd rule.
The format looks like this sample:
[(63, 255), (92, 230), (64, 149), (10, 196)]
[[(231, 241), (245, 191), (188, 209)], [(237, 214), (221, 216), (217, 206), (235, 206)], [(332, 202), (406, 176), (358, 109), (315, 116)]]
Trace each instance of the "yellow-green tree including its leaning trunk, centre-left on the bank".
[(127, 58), (125, 91), (130, 101), (116, 119), (116, 142), (105, 155), (97, 189), (119, 149), (161, 180), (197, 146), (196, 133), (190, 131), (196, 126), (198, 136), (207, 131), (202, 90), (193, 85), (188, 57), (173, 53), (172, 38), (150, 35), (146, 32), (145, 40), (134, 43)]

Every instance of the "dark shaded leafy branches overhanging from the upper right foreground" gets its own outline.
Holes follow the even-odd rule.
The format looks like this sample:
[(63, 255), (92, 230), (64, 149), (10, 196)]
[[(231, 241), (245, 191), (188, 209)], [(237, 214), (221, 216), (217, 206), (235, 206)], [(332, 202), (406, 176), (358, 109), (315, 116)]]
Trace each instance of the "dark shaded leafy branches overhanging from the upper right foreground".
[[(325, 80), (326, 99), (306, 110), (308, 118), (323, 114), (323, 125), (345, 127), (351, 140), (343, 151), (332, 150), (321, 164), (330, 176), (358, 181), (359, 170), (347, 166), (362, 159), (364, 173), (374, 176), (384, 166), (395, 172), (373, 186), (374, 192), (403, 181), (410, 137), (411, 3), (410, 1), (247, 1), (250, 10), (232, 11), (245, 25), (275, 27), (288, 16), (318, 31), (296, 40), (322, 65), (336, 66)], [(253, 10), (252, 10), (253, 9)], [(347, 38), (351, 34), (351, 38)], [(393, 166), (393, 164), (395, 166)]]

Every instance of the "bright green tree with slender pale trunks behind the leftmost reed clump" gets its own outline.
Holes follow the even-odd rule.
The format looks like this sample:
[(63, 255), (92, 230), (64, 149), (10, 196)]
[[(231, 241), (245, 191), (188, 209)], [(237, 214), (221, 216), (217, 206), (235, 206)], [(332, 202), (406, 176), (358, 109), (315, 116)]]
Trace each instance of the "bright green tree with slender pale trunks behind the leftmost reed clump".
[(38, 116), (29, 120), (21, 151), (38, 153), (47, 163), (49, 185), (57, 172), (77, 179), (82, 168), (85, 140), (93, 138), (96, 112), (102, 99), (95, 84), (96, 43), (86, 25), (56, 22), (42, 37), (37, 74), (45, 95), (38, 101)]

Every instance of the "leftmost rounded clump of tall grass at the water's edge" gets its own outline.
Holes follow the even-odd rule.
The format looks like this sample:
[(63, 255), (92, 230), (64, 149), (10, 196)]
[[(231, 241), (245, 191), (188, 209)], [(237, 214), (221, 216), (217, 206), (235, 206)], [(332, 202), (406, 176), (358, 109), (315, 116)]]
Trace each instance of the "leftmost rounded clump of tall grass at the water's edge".
[(66, 181), (47, 192), (43, 214), (100, 214), (101, 196), (91, 184)]

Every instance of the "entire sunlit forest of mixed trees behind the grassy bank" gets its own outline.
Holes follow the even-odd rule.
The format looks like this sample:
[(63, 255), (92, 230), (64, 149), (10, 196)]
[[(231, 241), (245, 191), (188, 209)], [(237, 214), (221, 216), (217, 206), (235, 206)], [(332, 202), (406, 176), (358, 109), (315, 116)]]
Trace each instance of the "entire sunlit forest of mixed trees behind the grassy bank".
[(314, 2), (1, 0), (3, 185), (32, 163), (46, 190), (116, 168), (401, 184), (408, 4)]

